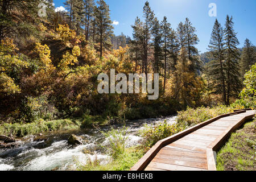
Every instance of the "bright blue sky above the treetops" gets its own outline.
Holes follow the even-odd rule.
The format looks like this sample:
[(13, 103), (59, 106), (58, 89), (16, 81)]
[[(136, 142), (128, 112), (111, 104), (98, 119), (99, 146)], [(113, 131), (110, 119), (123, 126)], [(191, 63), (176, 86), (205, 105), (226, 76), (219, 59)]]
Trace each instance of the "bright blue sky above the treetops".
[[(53, 0), (55, 7), (64, 6), (64, 0)], [(111, 19), (119, 24), (114, 25), (115, 35), (123, 34), (132, 38), (134, 20), (137, 16), (142, 18), (142, 10), (146, 0), (105, 0), (109, 5)], [(226, 15), (233, 16), (234, 30), (238, 32), (237, 38), (240, 47), (246, 38), (256, 46), (256, 1), (255, 0), (148, 0), (150, 7), (154, 10), (159, 20), (167, 16), (172, 28), (177, 27), (179, 22), (184, 22), (188, 17), (193, 26), (196, 27), (196, 34), (200, 39), (197, 48), (201, 52), (207, 51), (210, 34), (215, 19), (222, 26), (225, 24)], [(210, 3), (217, 5), (217, 17), (210, 17), (208, 7)]]

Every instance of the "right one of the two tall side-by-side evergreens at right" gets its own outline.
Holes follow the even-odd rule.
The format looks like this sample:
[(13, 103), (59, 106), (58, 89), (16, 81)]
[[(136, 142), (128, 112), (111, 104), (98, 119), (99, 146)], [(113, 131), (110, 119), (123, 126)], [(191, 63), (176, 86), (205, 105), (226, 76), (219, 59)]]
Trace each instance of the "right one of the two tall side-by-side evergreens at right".
[(230, 97), (237, 96), (241, 88), (240, 72), (238, 60), (240, 57), (237, 48), (239, 42), (237, 33), (234, 32), (232, 16), (226, 16), (225, 24), (225, 59), (226, 59), (226, 77), (227, 77), (227, 104), (230, 103)]

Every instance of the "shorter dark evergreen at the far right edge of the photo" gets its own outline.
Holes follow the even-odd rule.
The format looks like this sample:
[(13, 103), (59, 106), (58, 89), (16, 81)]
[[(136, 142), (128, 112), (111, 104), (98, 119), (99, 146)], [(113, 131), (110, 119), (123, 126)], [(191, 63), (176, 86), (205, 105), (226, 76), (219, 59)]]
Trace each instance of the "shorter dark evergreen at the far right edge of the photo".
[(256, 49), (249, 39), (245, 40), (245, 44), (241, 56), (241, 73), (245, 75), (250, 70), (250, 66), (256, 63)]

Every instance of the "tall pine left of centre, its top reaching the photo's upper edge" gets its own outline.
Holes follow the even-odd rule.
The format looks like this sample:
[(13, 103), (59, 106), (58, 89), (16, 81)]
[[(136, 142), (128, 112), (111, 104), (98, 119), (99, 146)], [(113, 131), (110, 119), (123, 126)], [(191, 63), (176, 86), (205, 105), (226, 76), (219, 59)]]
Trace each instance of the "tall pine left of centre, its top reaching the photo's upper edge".
[(109, 5), (104, 0), (97, 1), (98, 7), (95, 11), (97, 43), (100, 43), (100, 57), (103, 56), (105, 48), (110, 48), (110, 36), (113, 34), (112, 20), (110, 19)]

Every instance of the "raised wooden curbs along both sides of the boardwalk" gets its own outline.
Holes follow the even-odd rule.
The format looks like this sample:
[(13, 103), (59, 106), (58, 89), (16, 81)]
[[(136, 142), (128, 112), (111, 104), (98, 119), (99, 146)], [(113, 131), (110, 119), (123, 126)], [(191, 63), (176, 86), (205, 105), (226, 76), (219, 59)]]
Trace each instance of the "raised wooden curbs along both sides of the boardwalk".
[[(158, 152), (168, 144), (175, 142), (176, 140), (179, 140), (180, 138), (183, 138), (184, 136), (191, 134), (193, 131), (199, 130), (201, 127), (204, 127), (206, 125), (209, 125), (210, 123), (217, 121), (218, 119), (228, 117), (231, 115), (246, 113), (246, 110), (237, 110), (234, 113), (229, 114), (222, 114), (217, 117), (214, 117), (212, 119), (209, 119), (208, 121), (205, 121), (203, 123), (199, 123), (198, 125), (195, 125), (189, 129), (183, 130), (180, 133), (177, 133), (175, 135), (172, 135), (171, 137), (159, 140), (130, 170), (131, 171), (142, 171), (144, 168), (147, 167), (147, 165), (151, 162), (152, 159), (158, 154)], [(216, 151), (221, 144), (225, 141), (226, 137), (238, 127), (241, 126), (241, 123), (243, 123), (245, 120), (253, 118), (253, 115), (248, 115), (245, 118), (243, 118), (240, 122), (237, 123), (236, 126), (228, 127), (226, 129), (226, 132), (224, 135), (221, 135), (216, 140), (214, 140), (210, 146), (207, 147), (207, 163), (208, 163), (208, 170), (216, 170), (216, 165), (214, 161), (214, 154), (213, 151)]]

